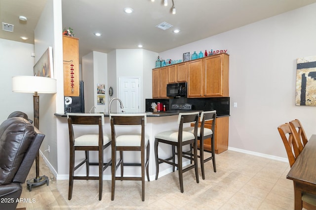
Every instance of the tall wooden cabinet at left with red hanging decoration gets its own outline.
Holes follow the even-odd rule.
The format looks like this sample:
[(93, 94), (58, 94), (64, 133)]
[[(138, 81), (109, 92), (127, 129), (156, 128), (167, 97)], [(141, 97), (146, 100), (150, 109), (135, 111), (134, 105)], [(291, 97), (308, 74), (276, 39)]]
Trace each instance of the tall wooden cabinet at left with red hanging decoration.
[(79, 96), (79, 39), (63, 35), (64, 96)]

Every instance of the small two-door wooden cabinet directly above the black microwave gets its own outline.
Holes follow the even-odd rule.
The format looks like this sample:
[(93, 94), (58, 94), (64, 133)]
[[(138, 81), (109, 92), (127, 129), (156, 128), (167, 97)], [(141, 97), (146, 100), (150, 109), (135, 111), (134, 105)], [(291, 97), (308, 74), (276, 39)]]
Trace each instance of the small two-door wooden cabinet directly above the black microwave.
[(170, 65), (168, 68), (168, 84), (187, 82), (187, 62)]

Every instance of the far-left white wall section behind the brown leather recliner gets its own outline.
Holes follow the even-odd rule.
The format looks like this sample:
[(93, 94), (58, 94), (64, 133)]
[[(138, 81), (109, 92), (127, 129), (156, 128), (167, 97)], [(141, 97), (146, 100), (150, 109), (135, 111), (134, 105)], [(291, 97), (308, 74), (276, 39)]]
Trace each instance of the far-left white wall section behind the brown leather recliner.
[(33, 120), (33, 95), (12, 92), (12, 76), (33, 75), (34, 45), (0, 39), (0, 121), (14, 111), (21, 111)]

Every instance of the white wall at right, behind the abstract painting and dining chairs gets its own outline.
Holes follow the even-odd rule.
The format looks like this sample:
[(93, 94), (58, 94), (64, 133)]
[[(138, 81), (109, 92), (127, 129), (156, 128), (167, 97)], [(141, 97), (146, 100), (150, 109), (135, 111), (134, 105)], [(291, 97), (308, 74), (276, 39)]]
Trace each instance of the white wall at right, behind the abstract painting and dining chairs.
[(296, 59), (316, 55), (315, 11), (316, 3), (159, 56), (178, 60), (185, 52), (228, 49), (229, 147), (287, 157), (278, 125), (300, 119), (308, 137), (316, 133), (316, 107), (295, 106)]

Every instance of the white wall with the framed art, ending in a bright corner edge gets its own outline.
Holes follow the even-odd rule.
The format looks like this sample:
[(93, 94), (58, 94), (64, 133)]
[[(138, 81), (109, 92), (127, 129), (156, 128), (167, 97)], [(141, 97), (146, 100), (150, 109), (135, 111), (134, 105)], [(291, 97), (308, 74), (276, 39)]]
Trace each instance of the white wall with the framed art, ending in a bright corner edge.
[[(54, 78), (57, 80), (56, 94), (40, 94), (40, 131), (45, 134), (40, 150), (45, 159), (58, 171), (60, 126), (54, 113), (64, 112), (62, 12), (61, 0), (47, 0), (35, 29), (35, 55), (39, 60), (49, 46), (53, 49)], [(44, 152), (50, 146), (50, 152)]]

